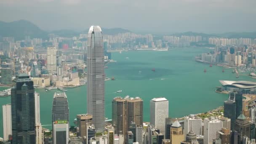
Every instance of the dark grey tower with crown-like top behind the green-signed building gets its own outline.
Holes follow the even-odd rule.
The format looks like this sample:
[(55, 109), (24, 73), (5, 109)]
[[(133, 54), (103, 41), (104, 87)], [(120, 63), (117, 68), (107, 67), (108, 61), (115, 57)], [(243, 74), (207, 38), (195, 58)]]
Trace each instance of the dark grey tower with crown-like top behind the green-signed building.
[(56, 91), (53, 96), (52, 122), (56, 120), (67, 120), (69, 122), (67, 95), (63, 91)]

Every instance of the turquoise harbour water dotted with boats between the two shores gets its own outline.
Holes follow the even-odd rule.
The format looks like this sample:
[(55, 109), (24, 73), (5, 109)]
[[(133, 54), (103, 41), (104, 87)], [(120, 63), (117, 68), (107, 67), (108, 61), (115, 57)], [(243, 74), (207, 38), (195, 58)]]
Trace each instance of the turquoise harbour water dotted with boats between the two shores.
[[(111, 119), (112, 99), (126, 95), (139, 96), (144, 100), (144, 121), (149, 121), (149, 101), (160, 96), (169, 100), (170, 117), (206, 112), (223, 105), (223, 101), (228, 97), (215, 92), (216, 86), (221, 86), (219, 80), (256, 81), (242, 75), (235, 78), (232, 69), (222, 72), (222, 67), (209, 67), (195, 61), (195, 56), (208, 51), (207, 48), (180, 48), (169, 51), (112, 53), (112, 59), (117, 62), (109, 63), (106, 69), (107, 77), (115, 77), (115, 80), (106, 81), (106, 117)], [(155, 72), (152, 72), (152, 68), (155, 68)], [(206, 73), (203, 72), (204, 69), (207, 69)], [(86, 85), (67, 90), (70, 122), (73, 125), (77, 114), (86, 113)], [(118, 90), (123, 92), (115, 93)], [(56, 90), (36, 91), (40, 93), (41, 123), (45, 128), (51, 128), (52, 100)], [(10, 101), (10, 97), (0, 98), (0, 105)], [(0, 107), (0, 137), (2, 136)]]

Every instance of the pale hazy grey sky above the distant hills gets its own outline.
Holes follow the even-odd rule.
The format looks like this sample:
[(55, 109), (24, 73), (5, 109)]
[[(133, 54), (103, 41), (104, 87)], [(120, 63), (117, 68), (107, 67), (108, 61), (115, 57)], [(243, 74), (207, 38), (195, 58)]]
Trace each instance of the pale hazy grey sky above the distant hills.
[(256, 0), (0, 0), (0, 20), (19, 19), (44, 30), (255, 32)]

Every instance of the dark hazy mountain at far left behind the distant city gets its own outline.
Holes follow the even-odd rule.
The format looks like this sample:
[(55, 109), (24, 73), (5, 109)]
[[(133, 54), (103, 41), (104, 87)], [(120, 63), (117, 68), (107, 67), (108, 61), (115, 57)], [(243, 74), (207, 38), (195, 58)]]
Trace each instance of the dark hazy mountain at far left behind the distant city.
[(24, 40), (26, 36), (47, 38), (47, 32), (26, 20), (4, 22), (0, 21), (0, 37), (14, 37), (15, 40)]

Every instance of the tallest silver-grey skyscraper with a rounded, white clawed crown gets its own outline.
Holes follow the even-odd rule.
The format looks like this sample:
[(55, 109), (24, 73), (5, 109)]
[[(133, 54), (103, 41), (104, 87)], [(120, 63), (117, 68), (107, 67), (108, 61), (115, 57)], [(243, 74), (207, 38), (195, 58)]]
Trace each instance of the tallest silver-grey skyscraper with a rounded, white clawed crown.
[(105, 69), (103, 36), (99, 26), (91, 26), (88, 32), (87, 69), (87, 113), (93, 115), (96, 132), (103, 132), (105, 125)]

